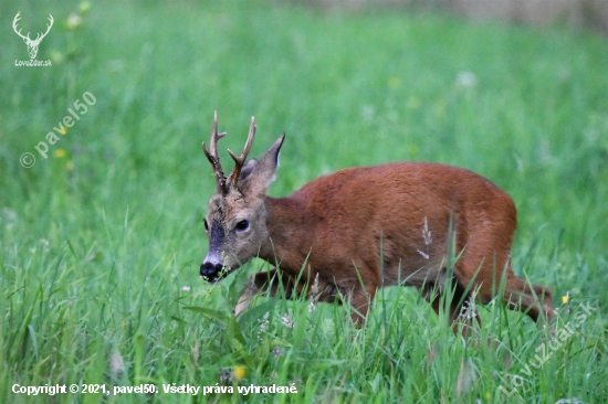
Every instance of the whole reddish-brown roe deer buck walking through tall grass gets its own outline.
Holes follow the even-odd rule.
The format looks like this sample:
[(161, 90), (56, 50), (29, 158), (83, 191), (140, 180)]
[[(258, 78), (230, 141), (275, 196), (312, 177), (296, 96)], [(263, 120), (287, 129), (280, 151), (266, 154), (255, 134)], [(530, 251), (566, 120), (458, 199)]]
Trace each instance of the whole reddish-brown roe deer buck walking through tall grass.
[[(250, 278), (237, 315), (255, 294), (274, 295), (279, 283), (287, 297), (310, 294), (313, 279), (319, 291), (315, 298), (348, 299), (356, 309), (355, 322), (359, 316), (365, 319), (379, 287), (398, 284), (422, 289), (439, 313), (437, 295), (448, 281), (454, 290), (447, 308), (453, 323), (470, 298), (488, 304), (504, 276), (503, 298), (510, 309), (535, 321), (543, 312), (551, 321), (551, 290), (531, 287), (511, 268), (517, 222), (513, 200), (485, 178), (450, 166), (396, 162), (340, 170), (274, 199), (266, 191), (285, 134), (259, 160), (245, 163), (255, 136), (252, 117), (243, 152), (237, 157), (228, 150), (235, 162), (228, 178), (218, 155), (224, 135), (218, 134), (216, 113), (210, 151), (202, 142), (217, 190), (205, 217), (209, 252), (200, 275), (214, 283), (255, 256), (276, 264)], [(459, 254), (452, 272), (450, 244)], [(479, 322), (476, 312), (468, 317)]]

